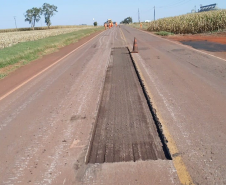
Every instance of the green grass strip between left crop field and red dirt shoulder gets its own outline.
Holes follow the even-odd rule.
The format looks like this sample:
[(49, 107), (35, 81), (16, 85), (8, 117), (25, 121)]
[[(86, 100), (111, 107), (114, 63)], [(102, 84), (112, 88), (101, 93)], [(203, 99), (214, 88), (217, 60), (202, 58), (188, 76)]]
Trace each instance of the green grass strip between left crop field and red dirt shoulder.
[(10, 72), (19, 67), (53, 53), (79, 39), (88, 36), (96, 31), (103, 30), (103, 27), (78, 30), (75, 32), (51, 36), (44, 39), (21, 42), (12, 47), (0, 50), (0, 79), (6, 77)]

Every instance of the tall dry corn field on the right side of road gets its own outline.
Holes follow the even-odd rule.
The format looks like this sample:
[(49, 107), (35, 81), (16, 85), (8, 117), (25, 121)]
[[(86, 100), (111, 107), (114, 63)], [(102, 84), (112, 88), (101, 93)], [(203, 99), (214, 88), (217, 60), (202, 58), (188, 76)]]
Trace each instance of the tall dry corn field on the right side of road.
[(167, 31), (175, 34), (204, 33), (226, 28), (226, 10), (186, 14), (152, 21), (148, 31)]

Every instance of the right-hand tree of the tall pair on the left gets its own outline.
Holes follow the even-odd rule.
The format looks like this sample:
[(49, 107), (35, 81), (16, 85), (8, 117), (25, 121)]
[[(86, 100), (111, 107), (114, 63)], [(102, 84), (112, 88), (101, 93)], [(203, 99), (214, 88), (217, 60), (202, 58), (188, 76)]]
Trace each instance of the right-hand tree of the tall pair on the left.
[(50, 18), (54, 15), (54, 12), (58, 12), (57, 11), (57, 6), (54, 5), (50, 5), (48, 3), (44, 3), (42, 5), (42, 14), (45, 17), (45, 23), (48, 26), (48, 28), (51, 25), (51, 20)]

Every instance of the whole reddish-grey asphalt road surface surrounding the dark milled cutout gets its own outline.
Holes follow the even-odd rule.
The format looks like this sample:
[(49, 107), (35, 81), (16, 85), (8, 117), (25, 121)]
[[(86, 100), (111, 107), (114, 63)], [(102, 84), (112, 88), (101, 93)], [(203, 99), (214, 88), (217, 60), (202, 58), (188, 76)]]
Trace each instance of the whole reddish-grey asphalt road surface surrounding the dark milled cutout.
[[(131, 49), (134, 37), (177, 150), (173, 160), (85, 164), (112, 48)], [(225, 74), (223, 60), (134, 28), (107, 30), (0, 101), (0, 183), (226, 184)]]

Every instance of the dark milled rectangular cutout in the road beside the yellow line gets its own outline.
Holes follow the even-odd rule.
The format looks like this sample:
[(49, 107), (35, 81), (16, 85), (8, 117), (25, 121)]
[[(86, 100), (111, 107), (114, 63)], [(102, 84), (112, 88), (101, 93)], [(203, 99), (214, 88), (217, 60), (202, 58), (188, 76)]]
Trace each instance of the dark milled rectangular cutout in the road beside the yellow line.
[(87, 163), (171, 160), (128, 48), (113, 48)]

